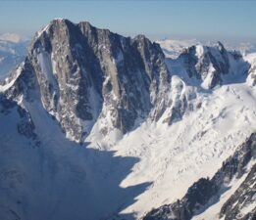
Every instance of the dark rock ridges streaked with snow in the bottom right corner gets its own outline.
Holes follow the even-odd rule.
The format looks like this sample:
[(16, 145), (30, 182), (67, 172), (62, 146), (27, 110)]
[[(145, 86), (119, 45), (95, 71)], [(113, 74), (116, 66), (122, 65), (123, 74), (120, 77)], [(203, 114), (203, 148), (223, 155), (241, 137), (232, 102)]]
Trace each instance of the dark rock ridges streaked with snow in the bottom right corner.
[[(253, 133), (238, 150), (224, 162), (222, 168), (209, 179), (201, 178), (194, 183), (185, 196), (175, 203), (163, 205), (153, 209), (145, 215), (143, 220), (189, 220), (193, 215), (205, 210), (214, 200), (227, 190), (227, 185), (235, 178), (240, 178), (246, 173), (247, 165), (256, 158), (256, 133)], [(233, 219), (255, 219), (256, 214), (256, 165), (250, 169), (246, 179), (242, 182), (235, 193), (223, 205), (220, 218)], [(254, 202), (248, 213), (242, 216), (243, 208)]]

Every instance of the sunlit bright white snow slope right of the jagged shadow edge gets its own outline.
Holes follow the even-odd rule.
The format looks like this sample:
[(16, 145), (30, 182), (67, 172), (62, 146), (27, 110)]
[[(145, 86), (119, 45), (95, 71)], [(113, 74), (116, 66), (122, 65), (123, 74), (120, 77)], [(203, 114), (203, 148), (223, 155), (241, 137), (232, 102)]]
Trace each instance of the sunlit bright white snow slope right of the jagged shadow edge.
[[(135, 212), (139, 218), (153, 207), (182, 198), (199, 178), (212, 177), (222, 162), (256, 131), (255, 87), (242, 81), (202, 90), (196, 84), (187, 85), (177, 65), (172, 71), (172, 82), (185, 86), (174, 90), (172, 96), (184, 93), (191, 97), (192, 104), (182, 120), (171, 126), (163, 123), (166, 110), (158, 122), (143, 122), (109, 147), (107, 142), (97, 140), (95, 130), (88, 138), (91, 143), (97, 142), (91, 148), (109, 148), (117, 156), (139, 158), (121, 187), (151, 184), (121, 213)], [(175, 69), (179, 69), (178, 75)]]

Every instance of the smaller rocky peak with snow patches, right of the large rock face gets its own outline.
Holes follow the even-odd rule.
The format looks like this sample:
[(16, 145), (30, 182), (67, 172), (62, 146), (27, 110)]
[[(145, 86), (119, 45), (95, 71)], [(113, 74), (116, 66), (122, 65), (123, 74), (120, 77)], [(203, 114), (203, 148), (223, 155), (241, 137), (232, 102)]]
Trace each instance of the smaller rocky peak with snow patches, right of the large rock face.
[(222, 85), (229, 75), (235, 78), (237, 72), (240, 74), (248, 68), (248, 64), (238, 53), (228, 52), (220, 41), (211, 47), (198, 44), (186, 48), (179, 59), (182, 60), (188, 76), (199, 79), (204, 89)]

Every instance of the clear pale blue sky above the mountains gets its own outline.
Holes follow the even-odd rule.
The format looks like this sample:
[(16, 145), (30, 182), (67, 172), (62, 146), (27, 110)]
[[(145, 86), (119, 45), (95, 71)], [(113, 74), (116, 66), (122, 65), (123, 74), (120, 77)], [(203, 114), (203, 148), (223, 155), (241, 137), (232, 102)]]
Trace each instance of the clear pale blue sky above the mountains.
[(256, 1), (0, 0), (0, 32), (33, 34), (54, 18), (151, 38), (252, 39)]

